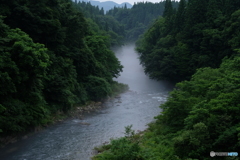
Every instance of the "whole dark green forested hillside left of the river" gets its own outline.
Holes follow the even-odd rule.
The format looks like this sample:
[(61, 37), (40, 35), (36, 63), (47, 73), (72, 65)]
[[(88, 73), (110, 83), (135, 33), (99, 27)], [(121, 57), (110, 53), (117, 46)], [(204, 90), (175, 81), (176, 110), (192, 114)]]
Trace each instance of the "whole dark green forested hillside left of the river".
[(45, 125), (56, 112), (101, 100), (118, 86), (112, 79), (123, 67), (109, 50), (110, 33), (74, 5), (1, 3), (0, 137)]

